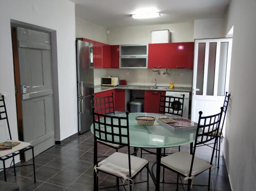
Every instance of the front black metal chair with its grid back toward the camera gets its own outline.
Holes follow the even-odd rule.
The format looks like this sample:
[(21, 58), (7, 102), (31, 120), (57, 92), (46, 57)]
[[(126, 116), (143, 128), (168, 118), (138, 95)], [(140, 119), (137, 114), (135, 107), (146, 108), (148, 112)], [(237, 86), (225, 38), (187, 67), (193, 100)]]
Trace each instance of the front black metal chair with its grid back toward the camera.
[[(93, 130), (94, 130), (94, 190), (107, 189), (137, 183), (147, 182), (148, 190), (148, 161), (131, 155), (129, 136), (129, 112), (126, 116), (118, 117), (96, 113), (93, 107)], [(115, 152), (102, 161), (98, 161), (97, 142), (98, 140), (111, 144), (127, 146), (127, 154)], [(134, 178), (144, 169), (147, 169), (147, 181), (134, 182)], [(116, 177), (116, 185), (98, 188), (98, 174), (103, 172)], [(119, 179), (123, 183), (119, 185)], [(125, 181), (128, 183), (125, 184)], [(126, 190), (126, 189), (125, 189)]]

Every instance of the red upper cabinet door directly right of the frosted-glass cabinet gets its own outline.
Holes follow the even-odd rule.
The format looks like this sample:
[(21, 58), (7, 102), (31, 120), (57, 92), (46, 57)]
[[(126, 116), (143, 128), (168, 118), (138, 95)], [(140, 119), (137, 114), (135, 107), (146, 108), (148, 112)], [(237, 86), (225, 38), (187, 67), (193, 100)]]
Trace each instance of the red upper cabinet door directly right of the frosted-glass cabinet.
[(170, 43), (148, 44), (147, 68), (170, 68)]

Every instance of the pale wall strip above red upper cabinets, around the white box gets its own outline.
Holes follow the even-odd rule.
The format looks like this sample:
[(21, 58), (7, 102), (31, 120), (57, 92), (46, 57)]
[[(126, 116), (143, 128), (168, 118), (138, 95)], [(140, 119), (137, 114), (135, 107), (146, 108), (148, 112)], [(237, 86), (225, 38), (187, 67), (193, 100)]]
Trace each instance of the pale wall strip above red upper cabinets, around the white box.
[(194, 41), (193, 22), (113, 28), (110, 29), (110, 34), (106, 36), (106, 39), (108, 44), (151, 43), (151, 32), (162, 29), (170, 30), (172, 33), (172, 42)]

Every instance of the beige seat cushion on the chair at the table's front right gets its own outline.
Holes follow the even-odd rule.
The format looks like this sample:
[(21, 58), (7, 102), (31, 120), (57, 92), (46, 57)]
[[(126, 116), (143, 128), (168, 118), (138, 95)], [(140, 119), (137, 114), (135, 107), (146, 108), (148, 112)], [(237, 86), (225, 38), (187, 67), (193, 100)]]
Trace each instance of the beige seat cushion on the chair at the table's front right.
[[(191, 159), (192, 155), (181, 151), (163, 157), (161, 163), (187, 177), (190, 171)], [(208, 161), (195, 157), (191, 176), (196, 176), (210, 167), (211, 165)]]

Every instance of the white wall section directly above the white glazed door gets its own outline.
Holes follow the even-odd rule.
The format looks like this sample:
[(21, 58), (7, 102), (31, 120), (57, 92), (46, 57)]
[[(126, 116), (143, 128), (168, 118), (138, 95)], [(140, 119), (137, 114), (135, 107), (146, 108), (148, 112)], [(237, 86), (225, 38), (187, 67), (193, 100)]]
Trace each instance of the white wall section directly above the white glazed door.
[(224, 18), (194, 20), (194, 39), (222, 38), (225, 33)]

